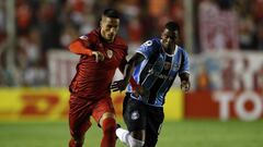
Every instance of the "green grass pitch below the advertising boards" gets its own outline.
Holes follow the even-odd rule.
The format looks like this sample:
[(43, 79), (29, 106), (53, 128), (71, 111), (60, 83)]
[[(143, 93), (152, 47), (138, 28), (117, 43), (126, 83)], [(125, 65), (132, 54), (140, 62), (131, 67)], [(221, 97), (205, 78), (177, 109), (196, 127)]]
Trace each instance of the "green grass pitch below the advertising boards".
[[(85, 135), (83, 147), (100, 147), (101, 137), (101, 130), (93, 123)], [(0, 122), (0, 147), (67, 147), (68, 139), (67, 122)], [(164, 122), (157, 144), (157, 147), (262, 146), (262, 120)], [(117, 140), (116, 147), (124, 147), (124, 145)]]

